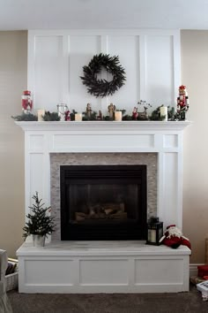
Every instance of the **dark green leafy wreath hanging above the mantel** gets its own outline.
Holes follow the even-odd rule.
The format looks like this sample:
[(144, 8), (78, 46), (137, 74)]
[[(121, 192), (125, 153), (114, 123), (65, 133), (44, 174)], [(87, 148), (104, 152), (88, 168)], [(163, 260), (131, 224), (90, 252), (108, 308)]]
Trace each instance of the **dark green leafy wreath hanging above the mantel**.
[[(101, 72), (102, 67), (113, 75), (111, 81), (97, 78), (97, 74)], [(116, 90), (124, 85), (124, 80), (126, 80), (125, 71), (122, 65), (119, 65), (119, 58), (102, 53), (95, 55), (88, 66), (83, 66), (83, 72), (84, 76), (80, 76), (83, 84), (87, 87), (87, 91), (96, 97), (113, 95)]]

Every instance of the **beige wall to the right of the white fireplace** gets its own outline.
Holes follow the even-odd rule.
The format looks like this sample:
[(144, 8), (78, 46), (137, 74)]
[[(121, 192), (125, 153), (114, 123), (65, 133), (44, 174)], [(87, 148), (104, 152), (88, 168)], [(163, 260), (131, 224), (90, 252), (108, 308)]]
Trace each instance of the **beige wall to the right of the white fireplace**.
[(208, 236), (208, 31), (182, 31), (182, 83), (189, 92), (184, 134), (183, 233), (191, 240), (191, 263), (204, 263)]

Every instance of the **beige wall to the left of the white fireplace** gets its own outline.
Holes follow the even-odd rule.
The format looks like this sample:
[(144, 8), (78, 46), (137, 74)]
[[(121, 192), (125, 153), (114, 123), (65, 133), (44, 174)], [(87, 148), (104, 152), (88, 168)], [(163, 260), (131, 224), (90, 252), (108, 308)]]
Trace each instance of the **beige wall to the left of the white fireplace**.
[(0, 248), (9, 256), (22, 243), (24, 135), (11, 115), (21, 113), (26, 88), (26, 31), (0, 32)]

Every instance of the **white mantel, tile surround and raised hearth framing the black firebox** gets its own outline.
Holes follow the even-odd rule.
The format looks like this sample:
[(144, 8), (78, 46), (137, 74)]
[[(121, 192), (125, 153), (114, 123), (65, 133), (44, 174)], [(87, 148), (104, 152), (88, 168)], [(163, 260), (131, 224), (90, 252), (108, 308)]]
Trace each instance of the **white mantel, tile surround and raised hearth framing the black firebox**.
[[(17, 251), (19, 292), (189, 290), (187, 247), (152, 247), (143, 240), (61, 240), (59, 186), (61, 165), (145, 164), (147, 217), (156, 213), (165, 227), (176, 224), (182, 228), (182, 133), (189, 122), (16, 124), (25, 131), (26, 214), (31, 196), (39, 191), (44, 202), (51, 204), (59, 225), (45, 248), (33, 248), (26, 242)], [(148, 172), (151, 168), (155, 179)]]

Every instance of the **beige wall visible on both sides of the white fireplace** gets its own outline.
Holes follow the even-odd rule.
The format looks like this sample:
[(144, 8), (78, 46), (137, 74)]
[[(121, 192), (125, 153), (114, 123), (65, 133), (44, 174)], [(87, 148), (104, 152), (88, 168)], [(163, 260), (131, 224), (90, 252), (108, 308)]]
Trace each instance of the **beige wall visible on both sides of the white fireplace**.
[[(0, 32), (0, 248), (10, 256), (24, 225), (24, 136), (11, 115), (21, 112), (26, 88), (26, 32)], [(191, 263), (204, 263), (208, 236), (208, 31), (182, 31), (182, 83), (189, 92), (184, 134), (183, 233), (191, 240)]]

